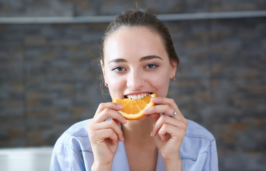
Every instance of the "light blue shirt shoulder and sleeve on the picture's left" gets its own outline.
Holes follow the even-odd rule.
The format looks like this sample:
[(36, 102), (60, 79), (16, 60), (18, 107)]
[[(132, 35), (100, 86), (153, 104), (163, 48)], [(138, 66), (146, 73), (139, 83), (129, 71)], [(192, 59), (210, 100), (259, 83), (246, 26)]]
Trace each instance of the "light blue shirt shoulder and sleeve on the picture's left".
[(50, 171), (89, 170), (93, 161), (86, 129), (89, 122), (90, 119), (72, 125), (58, 138), (51, 156)]

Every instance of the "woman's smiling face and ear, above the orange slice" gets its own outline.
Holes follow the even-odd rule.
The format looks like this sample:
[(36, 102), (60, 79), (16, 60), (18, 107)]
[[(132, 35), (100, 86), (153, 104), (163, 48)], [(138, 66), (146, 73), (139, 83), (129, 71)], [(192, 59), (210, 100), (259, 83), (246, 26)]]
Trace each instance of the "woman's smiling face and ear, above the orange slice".
[(166, 97), (176, 63), (169, 62), (161, 37), (147, 27), (121, 27), (104, 44), (104, 81), (112, 98)]

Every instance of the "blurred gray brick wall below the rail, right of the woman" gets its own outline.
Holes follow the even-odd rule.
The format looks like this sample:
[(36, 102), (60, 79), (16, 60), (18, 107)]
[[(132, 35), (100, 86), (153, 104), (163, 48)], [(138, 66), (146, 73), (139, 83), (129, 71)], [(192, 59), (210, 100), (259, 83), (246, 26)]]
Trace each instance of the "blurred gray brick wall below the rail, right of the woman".
[(220, 170), (265, 170), (266, 19), (168, 25), (181, 58), (169, 95), (215, 135)]

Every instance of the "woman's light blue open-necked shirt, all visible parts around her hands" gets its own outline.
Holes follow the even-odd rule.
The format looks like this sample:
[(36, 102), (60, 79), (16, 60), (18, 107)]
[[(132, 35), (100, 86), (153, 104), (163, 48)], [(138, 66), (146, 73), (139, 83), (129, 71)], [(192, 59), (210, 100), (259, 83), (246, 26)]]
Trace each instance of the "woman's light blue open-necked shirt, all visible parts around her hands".
[[(89, 121), (74, 124), (60, 136), (54, 146), (50, 171), (91, 171), (94, 159), (86, 130)], [(207, 129), (188, 120), (180, 158), (183, 171), (218, 171), (215, 138)], [(129, 171), (123, 142), (119, 143), (112, 171)], [(160, 151), (156, 171), (164, 171)]]

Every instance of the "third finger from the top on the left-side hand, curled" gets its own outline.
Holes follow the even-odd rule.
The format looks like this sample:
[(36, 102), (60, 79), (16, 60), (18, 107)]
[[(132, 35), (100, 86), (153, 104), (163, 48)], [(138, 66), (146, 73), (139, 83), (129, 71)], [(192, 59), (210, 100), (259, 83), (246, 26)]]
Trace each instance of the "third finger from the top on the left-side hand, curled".
[(106, 122), (101, 122), (99, 124), (94, 125), (94, 130), (100, 129), (113, 129), (113, 131), (117, 134), (119, 141), (123, 141), (123, 132), (116, 121), (110, 120)]

